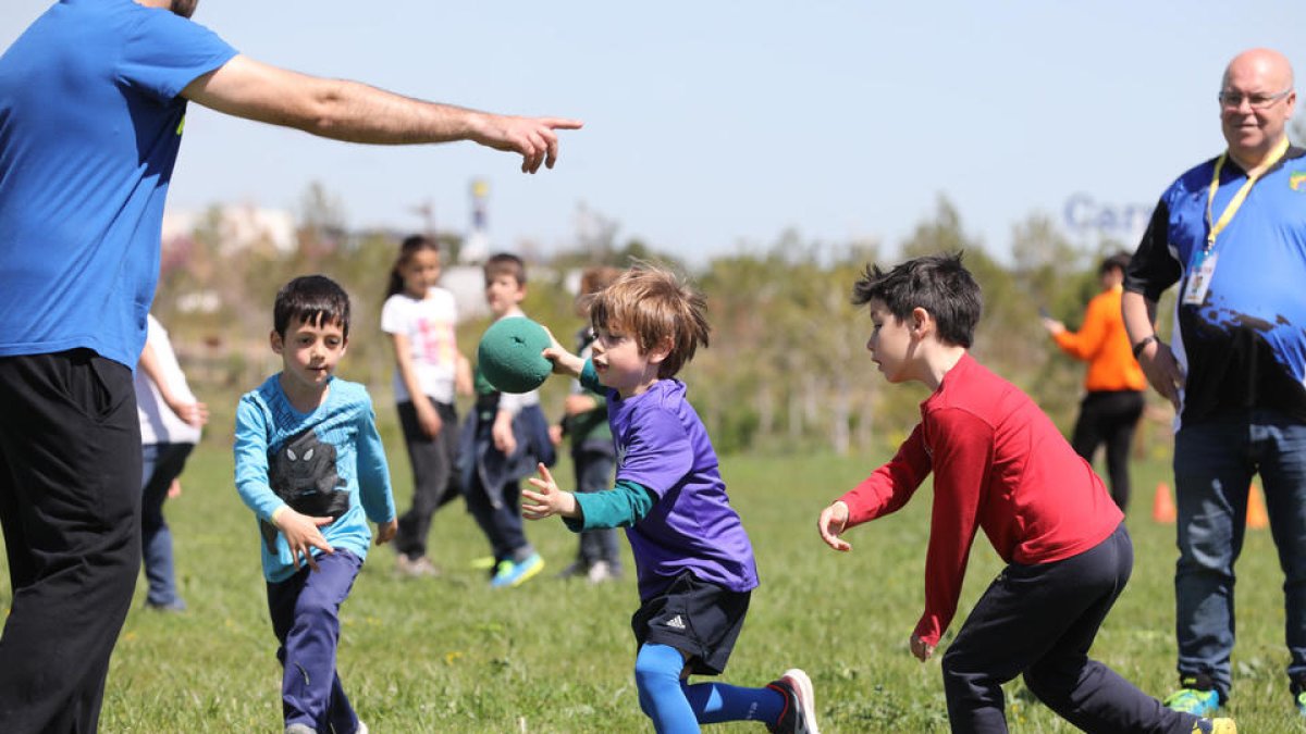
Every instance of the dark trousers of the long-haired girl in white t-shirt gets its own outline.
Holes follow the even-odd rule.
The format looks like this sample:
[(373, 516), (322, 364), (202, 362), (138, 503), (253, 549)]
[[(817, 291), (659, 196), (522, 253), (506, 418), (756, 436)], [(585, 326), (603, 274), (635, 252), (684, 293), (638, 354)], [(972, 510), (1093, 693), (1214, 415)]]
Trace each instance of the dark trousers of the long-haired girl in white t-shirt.
[[(430, 400), (421, 396), (419, 400)], [(409, 558), (426, 555), (431, 517), (436, 509), (458, 496), (454, 461), (458, 453), (458, 413), (453, 405), (431, 401), (443, 427), (435, 438), (426, 435), (417, 421), (417, 407), (410, 401), (398, 404), (404, 444), (413, 465), (413, 507), (400, 516), (394, 550)]]

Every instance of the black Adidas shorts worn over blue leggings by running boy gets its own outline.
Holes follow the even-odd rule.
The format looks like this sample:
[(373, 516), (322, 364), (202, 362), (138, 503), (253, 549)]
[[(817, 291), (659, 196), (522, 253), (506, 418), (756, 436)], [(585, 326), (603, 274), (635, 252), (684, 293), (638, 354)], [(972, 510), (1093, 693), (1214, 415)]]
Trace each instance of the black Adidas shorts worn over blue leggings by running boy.
[(631, 616), (636, 643), (673, 646), (690, 673), (720, 675), (743, 630), (752, 592), (731, 592), (686, 571)]

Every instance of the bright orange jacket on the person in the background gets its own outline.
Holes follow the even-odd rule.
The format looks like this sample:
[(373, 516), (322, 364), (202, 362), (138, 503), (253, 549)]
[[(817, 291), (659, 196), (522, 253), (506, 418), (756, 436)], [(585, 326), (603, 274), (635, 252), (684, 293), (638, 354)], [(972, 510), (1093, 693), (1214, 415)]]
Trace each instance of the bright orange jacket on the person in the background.
[(1089, 392), (1145, 391), (1147, 376), (1134, 359), (1130, 336), (1121, 317), (1121, 294), (1115, 286), (1088, 302), (1084, 325), (1079, 332), (1064, 330), (1053, 336), (1062, 351), (1088, 362), (1084, 388)]

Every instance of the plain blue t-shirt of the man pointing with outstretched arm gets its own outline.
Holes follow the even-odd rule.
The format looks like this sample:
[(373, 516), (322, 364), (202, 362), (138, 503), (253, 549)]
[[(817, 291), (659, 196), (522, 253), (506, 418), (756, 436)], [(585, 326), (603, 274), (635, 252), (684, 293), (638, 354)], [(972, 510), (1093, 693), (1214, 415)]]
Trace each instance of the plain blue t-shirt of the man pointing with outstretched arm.
[(0, 355), (135, 367), (158, 281), (178, 94), (236, 51), (132, 0), (64, 0), (0, 56)]

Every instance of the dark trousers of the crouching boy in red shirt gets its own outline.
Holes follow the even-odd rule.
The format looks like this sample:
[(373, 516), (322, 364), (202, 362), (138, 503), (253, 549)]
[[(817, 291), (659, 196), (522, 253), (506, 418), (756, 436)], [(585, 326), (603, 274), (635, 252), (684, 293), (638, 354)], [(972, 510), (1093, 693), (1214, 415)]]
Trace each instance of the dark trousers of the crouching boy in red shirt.
[(1123, 524), (1064, 560), (1008, 564), (943, 656), (952, 730), (1007, 731), (1000, 686), (1024, 674), (1040, 701), (1091, 734), (1190, 734), (1195, 716), (1162, 707), (1088, 657), (1132, 568)]

